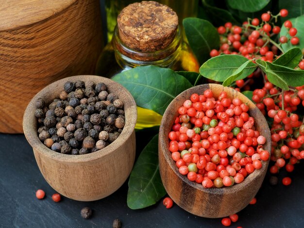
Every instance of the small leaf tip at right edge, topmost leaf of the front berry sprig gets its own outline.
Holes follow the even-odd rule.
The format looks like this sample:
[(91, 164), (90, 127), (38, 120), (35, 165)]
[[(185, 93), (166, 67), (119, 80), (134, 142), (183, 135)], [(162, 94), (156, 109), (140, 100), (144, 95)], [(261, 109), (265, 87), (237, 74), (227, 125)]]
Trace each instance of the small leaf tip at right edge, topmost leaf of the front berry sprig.
[(294, 69), (302, 59), (302, 51), (299, 48), (293, 48), (272, 62), (275, 65), (282, 65)]

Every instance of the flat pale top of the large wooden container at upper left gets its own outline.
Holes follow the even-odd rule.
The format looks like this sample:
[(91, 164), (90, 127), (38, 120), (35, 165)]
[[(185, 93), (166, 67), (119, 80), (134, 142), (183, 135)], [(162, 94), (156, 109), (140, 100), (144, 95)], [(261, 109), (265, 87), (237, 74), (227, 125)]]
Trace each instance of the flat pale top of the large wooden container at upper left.
[(0, 5), (0, 31), (34, 24), (66, 9), (76, 0), (4, 0)]

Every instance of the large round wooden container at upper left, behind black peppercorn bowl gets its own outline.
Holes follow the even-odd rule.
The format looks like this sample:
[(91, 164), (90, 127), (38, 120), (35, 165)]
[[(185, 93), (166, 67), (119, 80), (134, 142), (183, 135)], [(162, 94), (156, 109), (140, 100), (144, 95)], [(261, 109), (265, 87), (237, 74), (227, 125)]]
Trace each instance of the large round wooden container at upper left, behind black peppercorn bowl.
[(0, 132), (22, 133), (26, 105), (58, 79), (94, 74), (103, 45), (98, 0), (0, 6)]

